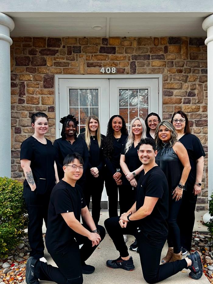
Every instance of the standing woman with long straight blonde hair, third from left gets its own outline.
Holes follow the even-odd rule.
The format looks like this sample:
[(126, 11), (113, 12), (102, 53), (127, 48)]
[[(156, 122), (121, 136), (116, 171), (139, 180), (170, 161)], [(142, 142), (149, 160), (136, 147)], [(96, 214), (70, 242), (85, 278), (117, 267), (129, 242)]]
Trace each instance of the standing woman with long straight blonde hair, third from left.
[(78, 139), (85, 140), (89, 149), (89, 167), (86, 171), (86, 191), (84, 197), (89, 209), (92, 197), (92, 217), (97, 225), (100, 219), (101, 195), (103, 191), (103, 139), (105, 136), (100, 132), (100, 122), (96, 115), (90, 115), (86, 120), (86, 130), (79, 134)]

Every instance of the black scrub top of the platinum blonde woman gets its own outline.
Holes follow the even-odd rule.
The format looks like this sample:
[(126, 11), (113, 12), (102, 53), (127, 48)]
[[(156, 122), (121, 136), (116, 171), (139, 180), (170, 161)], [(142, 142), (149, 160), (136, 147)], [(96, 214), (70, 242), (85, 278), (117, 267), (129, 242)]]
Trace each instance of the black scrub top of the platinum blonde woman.
[[(134, 170), (138, 169), (142, 165), (138, 157), (138, 145), (134, 148), (134, 143), (132, 143), (127, 153), (125, 153), (125, 145), (126, 143), (122, 146), (121, 155), (125, 155), (125, 163), (129, 171), (134, 172)], [(135, 178), (137, 179), (137, 176)], [(127, 178), (124, 175), (122, 175), (122, 184), (130, 185), (130, 182), (127, 181)]]

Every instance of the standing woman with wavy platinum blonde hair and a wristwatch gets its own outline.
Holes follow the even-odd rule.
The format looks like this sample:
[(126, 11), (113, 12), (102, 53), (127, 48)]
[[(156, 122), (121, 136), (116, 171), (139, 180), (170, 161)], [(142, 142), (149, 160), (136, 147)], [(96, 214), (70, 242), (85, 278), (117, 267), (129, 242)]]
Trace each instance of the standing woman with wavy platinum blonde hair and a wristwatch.
[(145, 121), (136, 117), (131, 121), (129, 135), (120, 155), (120, 167), (124, 173), (119, 194), (120, 215), (127, 212), (136, 199), (137, 176), (143, 169), (138, 158), (138, 143), (142, 138), (146, 138)]

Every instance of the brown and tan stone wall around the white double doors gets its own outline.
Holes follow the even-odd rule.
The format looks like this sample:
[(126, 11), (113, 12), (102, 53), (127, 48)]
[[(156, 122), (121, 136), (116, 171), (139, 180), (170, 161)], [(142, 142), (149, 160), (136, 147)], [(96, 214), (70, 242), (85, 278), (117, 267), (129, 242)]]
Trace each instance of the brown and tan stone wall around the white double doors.
[(207, 209), (207, 47), (204, 38), (16, 37), (11, 46), (12, 177), (23, 180), (20, 145), (33, 130), (30, 115), (47, 113), (55, 139), (54, 74), (163, 74), (163, 117), (185, 111), (207, 154), (197, 209)]

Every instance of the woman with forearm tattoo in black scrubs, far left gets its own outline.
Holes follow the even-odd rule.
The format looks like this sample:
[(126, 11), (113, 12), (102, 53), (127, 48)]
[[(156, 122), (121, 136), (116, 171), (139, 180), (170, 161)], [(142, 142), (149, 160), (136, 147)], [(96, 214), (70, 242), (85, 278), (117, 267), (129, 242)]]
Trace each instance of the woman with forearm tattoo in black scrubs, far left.
[(43, 112), (32, 114), (31, 125), (35, 133), (21, 144), (20, 160), (25, 174), (23, 197), (27, 205), (30, 256), (47, 262), (44, 258), (42, 235), (43, 219), (47, 227), (50, 194), (59, 181), (55, 164), (55, 149), (44, 137), (48, 132), (48, 117)]

